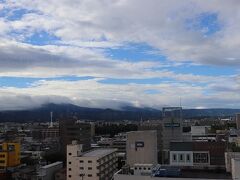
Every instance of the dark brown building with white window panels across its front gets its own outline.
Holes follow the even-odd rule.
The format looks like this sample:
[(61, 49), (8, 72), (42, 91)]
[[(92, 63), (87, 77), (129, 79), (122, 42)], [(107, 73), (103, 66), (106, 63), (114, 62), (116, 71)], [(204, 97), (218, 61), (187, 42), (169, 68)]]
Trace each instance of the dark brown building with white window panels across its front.
[(170, 165), (195, 169), (225, 169), (224, 142), (171, 142)]

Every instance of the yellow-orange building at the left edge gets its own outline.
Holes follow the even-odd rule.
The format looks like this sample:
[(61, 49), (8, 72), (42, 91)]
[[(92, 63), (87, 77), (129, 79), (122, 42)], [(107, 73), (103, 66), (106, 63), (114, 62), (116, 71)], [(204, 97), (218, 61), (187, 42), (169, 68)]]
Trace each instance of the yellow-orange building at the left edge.
[(0, 170), (20, 165), (20, 143), (3, 142), (0, 144)]

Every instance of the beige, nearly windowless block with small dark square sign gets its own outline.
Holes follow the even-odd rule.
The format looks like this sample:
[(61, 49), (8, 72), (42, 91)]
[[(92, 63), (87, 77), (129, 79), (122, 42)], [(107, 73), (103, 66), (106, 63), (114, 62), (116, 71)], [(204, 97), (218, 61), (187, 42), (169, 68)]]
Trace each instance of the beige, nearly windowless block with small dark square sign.
[(127, 164), (157, 164), (157, 131), (131, 131), (127, 133)]

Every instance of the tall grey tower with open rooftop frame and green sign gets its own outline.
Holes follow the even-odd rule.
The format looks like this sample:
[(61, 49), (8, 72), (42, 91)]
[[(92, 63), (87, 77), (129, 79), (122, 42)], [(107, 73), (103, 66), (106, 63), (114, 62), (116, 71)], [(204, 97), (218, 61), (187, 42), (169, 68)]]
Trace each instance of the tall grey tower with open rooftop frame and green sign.
[(169, 151), (171, 141), (182, 140), (182, 108), (165, 107), (163, 117), (163, 149)]

